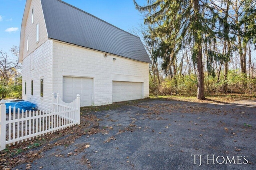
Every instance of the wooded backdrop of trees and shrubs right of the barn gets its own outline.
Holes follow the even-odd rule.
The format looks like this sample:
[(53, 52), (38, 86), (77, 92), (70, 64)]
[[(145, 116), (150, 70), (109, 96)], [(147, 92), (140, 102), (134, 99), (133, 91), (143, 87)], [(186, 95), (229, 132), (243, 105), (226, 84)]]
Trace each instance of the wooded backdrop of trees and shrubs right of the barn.
[(254, 93), (256, 0), (147, 0), (150, 92)]

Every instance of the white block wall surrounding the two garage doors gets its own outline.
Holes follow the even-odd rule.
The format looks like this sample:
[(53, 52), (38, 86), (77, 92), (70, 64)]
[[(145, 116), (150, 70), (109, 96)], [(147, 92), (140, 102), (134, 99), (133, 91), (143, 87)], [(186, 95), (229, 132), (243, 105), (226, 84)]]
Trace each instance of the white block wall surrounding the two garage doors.
[(64, 76), (88, 77), (93, 78), (92, 105), (111, 104), (113, 74), (114, 77), (124, 75), (122, 81), (135, 77), (135, 80), (144, 82), (143, 97), (148, 97), (148, 63), (116, 55), (104, 57), (103, 52), (56, 41), (53, 48), (53, 91), (60, 93), (61, 97)]

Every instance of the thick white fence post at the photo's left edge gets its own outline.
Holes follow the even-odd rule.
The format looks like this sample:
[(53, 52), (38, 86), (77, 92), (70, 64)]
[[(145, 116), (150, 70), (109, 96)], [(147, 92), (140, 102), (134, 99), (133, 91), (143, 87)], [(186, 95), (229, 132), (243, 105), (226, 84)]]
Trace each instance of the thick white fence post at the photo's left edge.
[(0, 101), (0, 104), (0, 150), (4, 150), (6, 145), (6, 105), (4, 99)]

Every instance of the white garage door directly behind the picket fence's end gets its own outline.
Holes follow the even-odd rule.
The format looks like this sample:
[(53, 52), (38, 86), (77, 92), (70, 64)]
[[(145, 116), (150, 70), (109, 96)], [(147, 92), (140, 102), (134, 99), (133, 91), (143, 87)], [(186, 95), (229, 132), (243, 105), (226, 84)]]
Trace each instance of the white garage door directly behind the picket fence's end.
[(80, 106), (92, 105), (92, 79), (83, 77), (63, 77), (63, 101), (70, 103), (80, 95)]

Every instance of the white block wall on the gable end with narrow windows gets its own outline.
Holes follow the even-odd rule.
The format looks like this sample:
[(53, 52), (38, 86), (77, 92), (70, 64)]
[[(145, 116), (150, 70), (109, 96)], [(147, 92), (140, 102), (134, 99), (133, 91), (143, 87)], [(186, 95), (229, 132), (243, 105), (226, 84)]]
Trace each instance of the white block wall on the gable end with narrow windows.
[[(31, 23), (31, 22), (30, 22)], [(31, 62), (31, 59), (33, 62)], [(31, 64), (34, 68), (31, 70)], [(28, 55), (22, 64), (22, 98), (31, 101), (38, 109), (52, 108), (52, 40), (48, 40)], [(40, 79), (44, 79), (44, 96), (40, 97)], [(31, 96), (31, 80), (34, 83)], [(25, 82), (27, 89), (25, 95)]]

